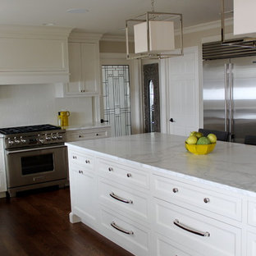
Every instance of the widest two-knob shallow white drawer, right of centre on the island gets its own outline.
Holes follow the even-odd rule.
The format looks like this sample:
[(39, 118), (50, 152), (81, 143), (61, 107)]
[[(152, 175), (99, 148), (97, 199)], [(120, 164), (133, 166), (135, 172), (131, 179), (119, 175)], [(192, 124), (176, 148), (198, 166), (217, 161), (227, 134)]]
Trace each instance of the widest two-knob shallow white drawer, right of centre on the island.
[(215, 213), (241, 221), (242, 199), (197, 186), (188, 185), (162, 176), (153, 176), (153, 194), (159, 199), (165, 199), (186, 207), (194, 206), (195, 210), (204, 214)]

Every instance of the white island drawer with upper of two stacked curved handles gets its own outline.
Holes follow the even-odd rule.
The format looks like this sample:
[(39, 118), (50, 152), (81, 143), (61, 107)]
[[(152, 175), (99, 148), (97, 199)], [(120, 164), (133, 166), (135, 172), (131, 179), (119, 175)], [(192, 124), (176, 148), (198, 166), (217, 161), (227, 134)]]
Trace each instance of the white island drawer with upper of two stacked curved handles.
[(98, 197), (101, 203), (128, 214), (129, 217), (143, 221), (149, 219), (149, 201), (147, 194), (129, 190), (121, 185), (113, 185), (101, 179), (98, 184)]

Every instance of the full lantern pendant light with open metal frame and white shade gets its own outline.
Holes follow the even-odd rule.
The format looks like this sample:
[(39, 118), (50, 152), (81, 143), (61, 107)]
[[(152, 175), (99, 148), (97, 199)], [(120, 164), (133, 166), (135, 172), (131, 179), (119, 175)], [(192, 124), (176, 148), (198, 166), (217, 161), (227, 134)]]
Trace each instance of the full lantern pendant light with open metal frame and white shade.
[[(183, 27), (180, 13), (152, 11), (126, 20), (126, 58), (166, 58), (183, 55)], [(134, 30), (134, 53), (129, 52), (130, 30)], [(180, 40), (178, 46), (175, 36)]]

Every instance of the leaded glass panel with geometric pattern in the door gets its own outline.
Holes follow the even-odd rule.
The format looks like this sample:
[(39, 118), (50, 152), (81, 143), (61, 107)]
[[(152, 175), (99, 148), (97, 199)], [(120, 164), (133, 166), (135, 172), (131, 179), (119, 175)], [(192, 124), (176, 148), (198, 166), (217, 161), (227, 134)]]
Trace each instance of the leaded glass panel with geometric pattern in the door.
[(128, 65), (103, 65), (104, 120), (112, 136), (130, 135), (130, 80)]

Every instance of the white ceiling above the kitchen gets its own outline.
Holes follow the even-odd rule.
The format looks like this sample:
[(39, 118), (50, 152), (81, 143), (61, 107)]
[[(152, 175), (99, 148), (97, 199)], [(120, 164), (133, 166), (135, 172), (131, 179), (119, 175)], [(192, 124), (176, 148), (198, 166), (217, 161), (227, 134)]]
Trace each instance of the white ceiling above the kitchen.
[[(233, 10), (233, 0), (225, 5)], [(220, 20), (221, 0), (155, 0), (154, 6), (155, 11), (181, 13), (185, 27)], [(0, 25), (53, 24), (120, 35), (127, 19), (151, 10), (151, 0), (1, 0)]]

